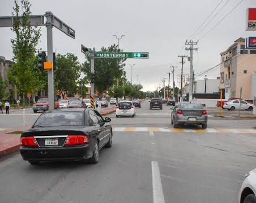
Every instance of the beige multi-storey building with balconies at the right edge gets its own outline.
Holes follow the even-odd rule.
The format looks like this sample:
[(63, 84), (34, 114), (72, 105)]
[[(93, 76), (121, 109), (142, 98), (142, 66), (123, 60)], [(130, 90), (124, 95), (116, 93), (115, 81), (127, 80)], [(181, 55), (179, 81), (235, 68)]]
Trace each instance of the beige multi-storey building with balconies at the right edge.
[(245, 38), (238, 38), (220, 53), (220, 89), (225, 99), (253, 99), (251, 82), (256, 72), (256, 49), (246, 48)]

